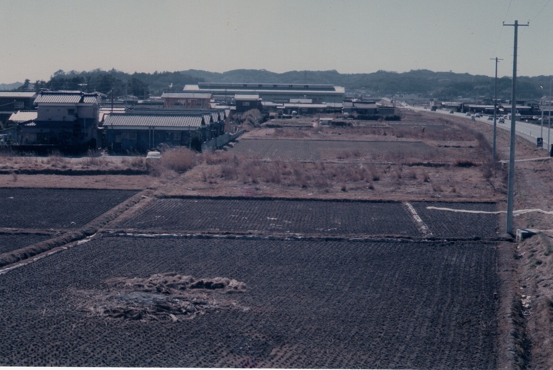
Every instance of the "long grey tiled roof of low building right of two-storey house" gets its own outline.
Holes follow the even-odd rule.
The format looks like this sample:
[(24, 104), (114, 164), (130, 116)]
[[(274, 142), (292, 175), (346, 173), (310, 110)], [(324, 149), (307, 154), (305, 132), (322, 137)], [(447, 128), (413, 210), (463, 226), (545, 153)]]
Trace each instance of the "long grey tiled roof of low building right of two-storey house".
[(137, 115), (109, 114), (104, 126), (155, 126), (155, 127), (201, 127), (205, 125), (203, 115)]

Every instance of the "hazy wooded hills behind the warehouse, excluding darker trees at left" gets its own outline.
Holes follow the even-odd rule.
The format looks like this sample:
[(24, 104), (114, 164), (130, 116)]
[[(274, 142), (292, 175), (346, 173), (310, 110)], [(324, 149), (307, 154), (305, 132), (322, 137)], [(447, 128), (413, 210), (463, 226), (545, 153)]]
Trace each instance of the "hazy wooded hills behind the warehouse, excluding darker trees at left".
[[(494, 78), (468, 73), (433, 72), (426, 69), (397, 73), (379, 70), (374, 73), (342, 74), (329, 71), (290, 71), (274, 73), (264, 69), (236, 69), (215, 73), (189, 69), (182, 73), (208, 82), (226, 83), (272, 83), (272, 84), (334, 84), (346, 90), (366, 90), (378, 96), (395, 94), (422, 94), (442, 100), (462, 97), (492, 97)], [(553, 76), (520, 77), (517, 90), (520, 99), (535, 99), (549, 93)], [(512, 80), (498, 79), (498, 96), (510, 99)], [(541, 88), (540, 86), (544, 86)]]

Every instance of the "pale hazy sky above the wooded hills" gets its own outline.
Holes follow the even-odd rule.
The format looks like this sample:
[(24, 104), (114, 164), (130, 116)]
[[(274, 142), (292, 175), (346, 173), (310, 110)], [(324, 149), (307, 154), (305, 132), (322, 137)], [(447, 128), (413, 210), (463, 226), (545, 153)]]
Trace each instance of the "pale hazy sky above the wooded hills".
[[(552, 0), (0, 0), (0, 83), (56, 70), (553, 74)], [(260, 81), (262, 82), (262, 81)]]

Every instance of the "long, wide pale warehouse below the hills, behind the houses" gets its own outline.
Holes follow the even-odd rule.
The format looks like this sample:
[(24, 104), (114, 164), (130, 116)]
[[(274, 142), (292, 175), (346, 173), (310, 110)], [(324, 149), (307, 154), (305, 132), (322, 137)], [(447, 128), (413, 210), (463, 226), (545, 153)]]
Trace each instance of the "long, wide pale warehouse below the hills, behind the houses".
[(211, 93), (215, 101), (229, 102), (234, 95), (259, 95), (263, 101), (290, 102), (290, 99), (311, 99), (323, 102), (342, 102), (345, 89), (334, 85), (309, 84), (236, 84), (236, 83), (198, 83), (186, 85), (187, 93)]

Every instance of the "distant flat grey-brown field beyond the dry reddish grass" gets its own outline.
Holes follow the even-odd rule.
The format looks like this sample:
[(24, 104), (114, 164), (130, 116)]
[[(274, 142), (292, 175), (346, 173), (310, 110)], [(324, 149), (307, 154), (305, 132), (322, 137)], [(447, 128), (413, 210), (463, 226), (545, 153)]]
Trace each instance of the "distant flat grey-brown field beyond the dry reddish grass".
[(296, 160), (335, 160), (343, 152), (359, 151), (378, 157), (387, 153), (421, 155), (436, 149), (422, 142), (242, 139), (232, 149), (237, 155)]

